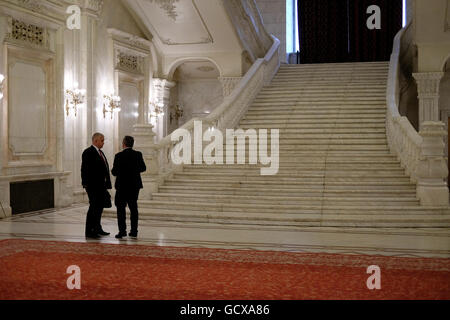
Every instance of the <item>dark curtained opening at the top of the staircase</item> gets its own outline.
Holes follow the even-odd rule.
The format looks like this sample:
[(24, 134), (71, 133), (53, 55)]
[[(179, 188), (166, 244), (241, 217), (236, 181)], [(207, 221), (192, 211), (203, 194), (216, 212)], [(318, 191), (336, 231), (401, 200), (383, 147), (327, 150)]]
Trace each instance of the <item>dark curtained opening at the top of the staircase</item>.
[[(373, 5), (380, 29), (367, 27)], [(300, 63), (387, 61), (402, 15), (402, 0), (298, 0)]]

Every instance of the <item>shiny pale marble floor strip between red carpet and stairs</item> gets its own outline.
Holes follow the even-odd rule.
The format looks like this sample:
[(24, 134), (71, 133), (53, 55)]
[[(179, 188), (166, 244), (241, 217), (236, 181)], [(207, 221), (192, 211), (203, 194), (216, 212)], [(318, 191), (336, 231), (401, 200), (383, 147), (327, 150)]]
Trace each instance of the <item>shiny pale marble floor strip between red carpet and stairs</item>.
[(116, 219), (104, 217), (103, 228), (111, 235), (87, 240), (86, 212), (87, 206), (78, 205), (1, 219), (0, 239), (450, 258), (449, 228), (269, 227), (140, 220), (137, 240), (117, 240)]

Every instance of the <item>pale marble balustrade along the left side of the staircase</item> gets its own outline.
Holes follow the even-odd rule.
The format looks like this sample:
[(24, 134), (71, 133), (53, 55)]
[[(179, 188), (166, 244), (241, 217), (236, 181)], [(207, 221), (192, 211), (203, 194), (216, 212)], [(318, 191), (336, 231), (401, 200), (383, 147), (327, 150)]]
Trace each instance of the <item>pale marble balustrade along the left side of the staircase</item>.
[[(232, 93), (225, 97), (224, 101), (211, 114), (202, 119), (193, 118), (180, 128), (192, 133), (194, 121), (196, 120), (201, 120), (204, 125), (209, 125), (219, 130), (235, 128), (262, 87), (270, 83), (278, 71), (280, 66), (278, 56), (280, 41), (274, 36), (272, 36), (272, 39), (273, 45), (266, 56), (255, 61), (233, 89)], [(172, 134), (167, 135), (156, 144), (158, 171), (162, 179), (174, 172), (182, 170), (182, 166), (175, 165), (171, 161), (170, 155), (175, 145), (176, 142), (172, 141)]]

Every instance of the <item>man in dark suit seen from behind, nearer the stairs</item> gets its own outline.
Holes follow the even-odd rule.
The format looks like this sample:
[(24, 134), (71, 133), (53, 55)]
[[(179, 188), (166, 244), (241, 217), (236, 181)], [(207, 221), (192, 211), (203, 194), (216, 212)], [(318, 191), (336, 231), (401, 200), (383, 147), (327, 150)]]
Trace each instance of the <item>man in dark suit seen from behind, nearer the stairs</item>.
[(116, 197), (115, 204), (117, 207), (117, 223), (119, 225), (119, 233), (117, 239), (121, 239), (127, 235), (127, 224), (125, 216), (125, 207), (128, 204), (130, 208), (131, 230), (128, 234), (130, 237), (136, 238), (138, 233), (138, 208), (137, 199), (139, 190), (143, 188), (141, 172), (147, 170), (142, 153), (133, 150), (134, 138), (126, 136), (123, 138), (123, 150), (114, 157), (114, 165), (112, 169), (113, 176), (116, 177)]

